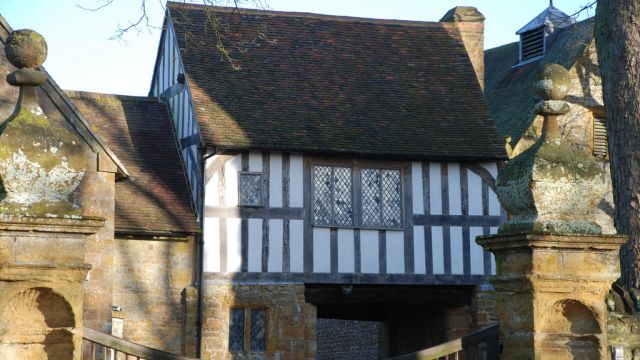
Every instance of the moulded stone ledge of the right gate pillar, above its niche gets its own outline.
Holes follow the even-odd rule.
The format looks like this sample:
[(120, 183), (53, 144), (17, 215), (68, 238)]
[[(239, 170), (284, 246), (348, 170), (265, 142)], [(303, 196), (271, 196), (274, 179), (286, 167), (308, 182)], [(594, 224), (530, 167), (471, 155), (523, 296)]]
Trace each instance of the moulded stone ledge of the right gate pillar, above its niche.
[(506, 234), (478, 236), (476, 242), (486, 250), (566, 249), (617, 251), (626, 235), (601, 234)]

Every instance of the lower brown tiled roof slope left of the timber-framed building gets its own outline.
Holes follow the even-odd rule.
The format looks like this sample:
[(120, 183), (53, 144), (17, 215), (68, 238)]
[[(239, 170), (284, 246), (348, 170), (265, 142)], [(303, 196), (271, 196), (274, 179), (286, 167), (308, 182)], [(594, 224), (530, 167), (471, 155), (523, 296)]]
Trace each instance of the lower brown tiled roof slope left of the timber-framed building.
[(67, 94), (131, 175), (116, 183), (116, 231), (199, 232), (167, 106), (144, 97)]

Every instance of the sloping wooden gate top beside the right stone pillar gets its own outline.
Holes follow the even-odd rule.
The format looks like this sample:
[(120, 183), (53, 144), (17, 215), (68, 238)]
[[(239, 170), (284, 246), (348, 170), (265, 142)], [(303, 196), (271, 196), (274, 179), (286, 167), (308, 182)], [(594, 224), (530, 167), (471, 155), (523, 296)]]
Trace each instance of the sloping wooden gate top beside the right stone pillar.
[(494, 325), (459, 339), (387, 360), (497, 360), (500, 353), (498, 330), (498, 325)]

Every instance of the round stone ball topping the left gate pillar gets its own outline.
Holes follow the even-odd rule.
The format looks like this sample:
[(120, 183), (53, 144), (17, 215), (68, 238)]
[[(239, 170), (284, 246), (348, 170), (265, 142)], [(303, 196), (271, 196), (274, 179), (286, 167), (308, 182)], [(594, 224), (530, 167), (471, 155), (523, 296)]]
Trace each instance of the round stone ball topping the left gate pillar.
[(15, 30), (7, 38), (5, 54), (19, 68), (36, 68), (47, 59), (47, 42), (31, 29)]

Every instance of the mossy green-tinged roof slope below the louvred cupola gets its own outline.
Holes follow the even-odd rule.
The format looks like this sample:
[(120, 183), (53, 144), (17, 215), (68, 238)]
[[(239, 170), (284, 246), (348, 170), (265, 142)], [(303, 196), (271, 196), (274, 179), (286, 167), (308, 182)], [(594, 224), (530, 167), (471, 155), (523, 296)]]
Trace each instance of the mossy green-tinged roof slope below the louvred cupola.
[(538, 100), (533, 82), (544, 64), (557, 63), (570, 69), (593, 38), (593, 18), (557, 29), (547, 40), (544, 58), (518, 64), (519, 43), (485, 51), (485, 97), (501, 136), (511, 136), (516, 144), (534, 119)]

